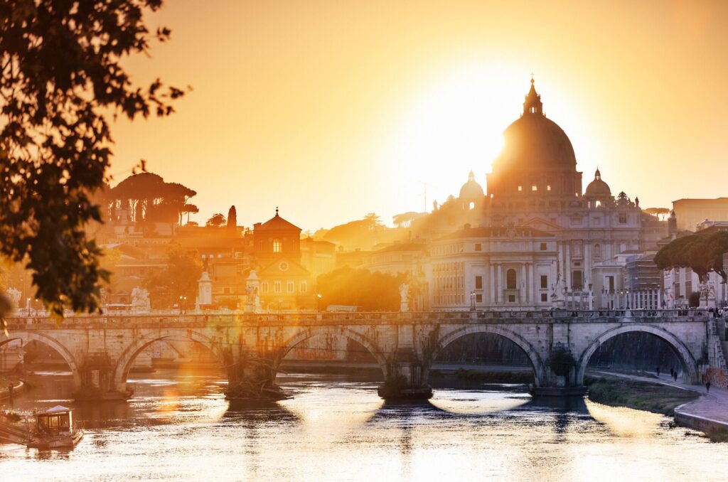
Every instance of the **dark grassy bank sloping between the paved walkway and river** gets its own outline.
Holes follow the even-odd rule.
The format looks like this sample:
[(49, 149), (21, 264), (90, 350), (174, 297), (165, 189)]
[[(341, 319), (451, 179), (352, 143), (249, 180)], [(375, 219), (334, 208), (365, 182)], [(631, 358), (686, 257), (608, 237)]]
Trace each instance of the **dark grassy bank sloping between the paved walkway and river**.
[(594, 402), (670, 416), (675, 407), (700, 396), (697, 392), (637, 380), (585, 377), (585, 384), (589, 385), (589, 400)]

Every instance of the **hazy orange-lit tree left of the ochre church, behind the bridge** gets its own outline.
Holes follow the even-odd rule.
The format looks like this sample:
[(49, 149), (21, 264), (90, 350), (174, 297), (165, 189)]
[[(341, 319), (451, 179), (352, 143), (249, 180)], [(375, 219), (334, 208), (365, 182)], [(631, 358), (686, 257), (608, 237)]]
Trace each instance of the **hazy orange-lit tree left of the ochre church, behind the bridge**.
[(186, 296), (187, 306), (194, 306), (202, 263), (195, 253), (183, 250), (179, 245), (172, 245), (167, 256), (167, 267), (152, 272), (144, 280), (149, 290), (149, 301), (154, 308), (170, 308), (180, 296)]

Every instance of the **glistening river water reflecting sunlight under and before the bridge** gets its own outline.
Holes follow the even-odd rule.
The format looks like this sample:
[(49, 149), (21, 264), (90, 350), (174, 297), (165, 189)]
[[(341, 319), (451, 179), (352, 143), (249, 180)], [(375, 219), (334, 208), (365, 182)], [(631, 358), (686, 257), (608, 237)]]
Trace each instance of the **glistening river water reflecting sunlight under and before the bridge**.
[(68, 374), (35, 381), (15, 406), (71, 404), (87, 433), (71, 451), (0, 446), (14, 480), (712, 481), (728, 467), (728, 446), (666, 417), (554, 404), (517, 385), (384, 403), (365, 378), (288, 375), (278, 382), (293, 398), (251, 405), (224, 400), (219, 374), (158, 371), (130, 380), (128, 403), (76, 406)]

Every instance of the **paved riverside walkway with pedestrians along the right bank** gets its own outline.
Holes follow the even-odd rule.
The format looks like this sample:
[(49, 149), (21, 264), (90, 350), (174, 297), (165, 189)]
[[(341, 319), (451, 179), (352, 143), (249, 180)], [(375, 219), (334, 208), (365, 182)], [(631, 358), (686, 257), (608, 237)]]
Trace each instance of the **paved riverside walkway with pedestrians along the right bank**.
[(681, 405), (680, 411), (684, 414), (700, 416), (704, 419), (713, 420), (728, 425), (728, 390), (725, 387), (711, 386), (711, 391), (705, 391), (705, 385), (691, 385), (687, 383), (674, 382), (670, 374), (660, 374), (658, 378), (650, 378), (648, 376), (636, 376), (627, 374), (617, 374), (611, 371), (593, 371), (596, 374), (620, 376), (641, 382), (659, 383), (669, 385), (670, 387), (680, 388), (682, 390), (691, 390), (702, 395), (694, 402)]

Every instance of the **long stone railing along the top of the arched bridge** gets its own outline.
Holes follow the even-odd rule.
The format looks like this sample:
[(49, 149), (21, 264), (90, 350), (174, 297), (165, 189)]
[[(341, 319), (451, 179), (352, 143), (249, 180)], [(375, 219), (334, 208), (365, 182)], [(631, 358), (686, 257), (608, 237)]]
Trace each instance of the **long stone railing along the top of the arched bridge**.
[(478, 310), (451, 312), (352, 312), (352, 313), (214, 313), (179, 315), (74, 315), (56, 323), (47, 317), (9, 317), (11, 329), (103, 328), (129, 326), (208, 326), (208, 325), (331, 325), (331, 324), (411, 324), (411, 323), (605, 323), (660, 320), (661, 322), (705, 320), (705, 309), (591, 309), (591, 310)]

